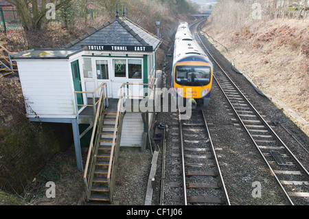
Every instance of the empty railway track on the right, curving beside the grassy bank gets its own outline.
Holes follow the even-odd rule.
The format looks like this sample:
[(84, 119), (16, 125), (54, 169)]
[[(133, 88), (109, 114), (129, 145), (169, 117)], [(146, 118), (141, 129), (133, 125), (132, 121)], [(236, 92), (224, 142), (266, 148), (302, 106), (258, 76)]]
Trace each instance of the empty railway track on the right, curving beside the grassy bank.
[(214, 67), (216, 69), (214, 81), (220, 87), (236, 115), (236, 122), (249, 135), (288, 203), (290, 205), (309, 205), (308, 171), (231, 80), (228, 73), (211, 56), (198, 34), (200, 24), (201, 22), (192, 25), (195, 30), (194, 36), (201, 42), (201, 46), (205, 48), (209, 58), (216, 66)]

